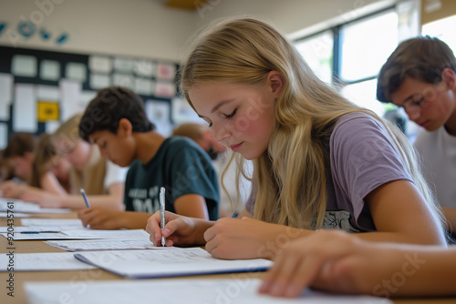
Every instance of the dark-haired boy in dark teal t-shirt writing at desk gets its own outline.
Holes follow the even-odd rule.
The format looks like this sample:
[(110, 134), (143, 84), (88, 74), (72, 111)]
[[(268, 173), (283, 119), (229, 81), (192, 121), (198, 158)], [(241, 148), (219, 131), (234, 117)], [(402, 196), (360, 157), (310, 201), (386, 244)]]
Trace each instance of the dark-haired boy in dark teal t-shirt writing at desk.
[(182, 216), (218, 217), (218, 184), (211, 159), (191, 139), (163, 137), (150, 123), (140, 96), (112, 86), (98, 91), (79, 125), (82, 138), (121, 167), (130, 166), (125, 182), (127, 211), (86, 208), (78, 213), (90, 228), (145, 228), (150, 214), (165, 208)]

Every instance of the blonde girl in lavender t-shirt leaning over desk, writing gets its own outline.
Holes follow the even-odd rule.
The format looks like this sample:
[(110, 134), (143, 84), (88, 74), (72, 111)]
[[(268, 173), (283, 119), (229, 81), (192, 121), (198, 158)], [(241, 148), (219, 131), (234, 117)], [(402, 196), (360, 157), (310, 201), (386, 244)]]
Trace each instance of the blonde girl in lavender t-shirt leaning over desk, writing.
[[(216, 258), (274, 258), (282, 242), (342, 228), (373, 241), (445, 245), (409, 140), (320, 81), (272, 26), (215, 25), (195, 40), (181, 90), (215, 137), (254, 159), (244, 218), (166, 215), (150, 240), (205, 244)], [(241, 164), (242, 165), (242, 164)], [(242, 167), (240, 167), (242, 168)]]

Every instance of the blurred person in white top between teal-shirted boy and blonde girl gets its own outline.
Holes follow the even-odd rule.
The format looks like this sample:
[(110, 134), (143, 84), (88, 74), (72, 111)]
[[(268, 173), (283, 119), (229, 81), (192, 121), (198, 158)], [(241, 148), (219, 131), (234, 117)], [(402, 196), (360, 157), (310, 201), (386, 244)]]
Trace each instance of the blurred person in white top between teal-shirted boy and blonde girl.
[[(250, 194), (249, 177), (252, 177), (252, 172), (248, 172), (248, 177), (236, 176), (236, 162), (231, 161), (233, 152), (213, 137), (209, 127), (185, 123), (175, 127), (172, 135), (192, 138), (212, 158), (219, 180), (219, 218), (236, 216), (241, 212)], [(227, 167), (228, 164), (230, 166)], [(252, 169), (251, 162), (245, 162), (245, 165)]]

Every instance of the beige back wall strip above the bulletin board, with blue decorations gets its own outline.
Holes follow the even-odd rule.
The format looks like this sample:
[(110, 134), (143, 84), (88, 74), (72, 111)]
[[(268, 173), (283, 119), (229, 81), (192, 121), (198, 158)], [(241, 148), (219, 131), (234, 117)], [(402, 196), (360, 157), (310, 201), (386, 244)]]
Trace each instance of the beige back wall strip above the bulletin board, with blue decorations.
[[(0, 45), (59, 52), (172, 60), (192, 34), (195, 16), (157, 0), (0, 0)], [(17, 26), (36, 25), (28, 38)], [(47, 40), (40, 31), (47, 31)], [(67, 40), (56, 40), (67, 33)]]

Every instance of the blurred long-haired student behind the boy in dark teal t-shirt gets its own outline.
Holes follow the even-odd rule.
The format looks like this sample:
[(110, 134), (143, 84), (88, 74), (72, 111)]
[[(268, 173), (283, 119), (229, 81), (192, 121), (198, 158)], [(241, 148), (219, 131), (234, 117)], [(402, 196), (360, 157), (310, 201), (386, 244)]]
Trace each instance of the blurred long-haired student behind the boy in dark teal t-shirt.
[(47, 208), (86, 208), (84, 198), (79, 193), (79, 189), (84, 188), (92, 206), (122, 210), (127, 170), (103, 159), (97, 146), (79, 137), (80, 117), (70, 117), (52, 136), (57, 153), (71, 164), (72, 193), (60, 196), (28, 189), (22, 198)]

